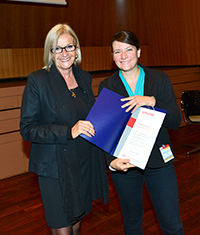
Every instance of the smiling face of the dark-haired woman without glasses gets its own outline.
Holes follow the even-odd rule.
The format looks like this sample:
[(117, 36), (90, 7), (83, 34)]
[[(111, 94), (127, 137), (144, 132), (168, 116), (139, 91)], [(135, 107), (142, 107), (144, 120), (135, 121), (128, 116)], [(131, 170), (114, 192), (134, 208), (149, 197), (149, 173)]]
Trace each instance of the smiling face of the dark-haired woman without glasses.
[(119, 41), (114, 41), (112, 48), (113, 60), (119, 69), (128, 72), (137, 66), (140, 49), (137, 50), (135, 46)]

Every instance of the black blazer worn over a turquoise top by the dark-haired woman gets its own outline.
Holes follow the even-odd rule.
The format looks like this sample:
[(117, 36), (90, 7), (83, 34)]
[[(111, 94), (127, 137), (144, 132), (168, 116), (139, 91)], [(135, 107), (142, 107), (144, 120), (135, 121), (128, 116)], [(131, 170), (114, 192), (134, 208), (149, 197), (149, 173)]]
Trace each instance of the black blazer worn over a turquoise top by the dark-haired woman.
[[(156, 98), (156, 107), (167, 110), (163, 125), (147, 163), (147, 167), (157, 168), (166, 166), (172, 162), (169, 161), (168, 163), (164, 163), (159, 147), (163, 144), (169, 144), (172, 149), (167, 128), (173, 130), (178, 129), (181, 123), (181, 113), (176, 102), (176, 95), (169, 76), (162, 71), (152, 70), (142, 65), (140, 66), (143, 67), (145, 72), (144, 95), (154, 96)], [(106, 87), (107, 89), (110, 89), (124, 97), (128, 96), (128, 93), (119, 77), (119, 71), (116, 71), (111, 77), (106, 78), (100, 83), (99, 92), (103, 87)], [(110, 157), (108, 159), (109, 164), (114, 158)]]

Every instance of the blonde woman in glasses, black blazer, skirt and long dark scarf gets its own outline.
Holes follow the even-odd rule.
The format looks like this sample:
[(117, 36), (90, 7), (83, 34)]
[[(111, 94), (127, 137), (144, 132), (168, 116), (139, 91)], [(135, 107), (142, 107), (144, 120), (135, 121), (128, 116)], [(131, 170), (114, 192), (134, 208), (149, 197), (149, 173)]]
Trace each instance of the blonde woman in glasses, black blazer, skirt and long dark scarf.
[(67, 24), (54, 26), (44, 46), (44, 68), (28, 76), (20, 133), (32, 142), (29, 170), (38, 175), (45, 218), (53, 235), (80, 234), (92, 200), (108, 202), (103, 154), (80, 134), (94, 136), (85, 120), (95, 102), (79, 40)]

